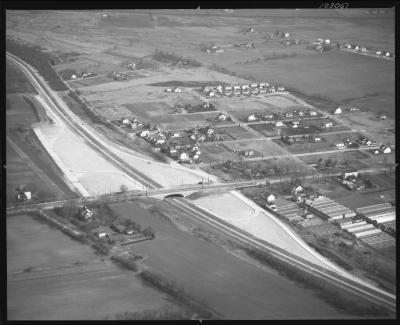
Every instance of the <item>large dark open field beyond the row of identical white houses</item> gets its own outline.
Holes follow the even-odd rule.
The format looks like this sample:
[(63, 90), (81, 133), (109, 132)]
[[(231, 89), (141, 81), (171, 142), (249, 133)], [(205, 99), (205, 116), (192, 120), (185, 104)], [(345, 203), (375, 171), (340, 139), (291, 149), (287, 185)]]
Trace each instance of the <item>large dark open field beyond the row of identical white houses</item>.
[[(327, 97), (335, 102), (369, 97), (371, 89), (374, 95), (393, 98), (394, 94), (393, 62), (338, 50), (323, 55), (315, 53), (262, 64), (226, 67), (238, 74), (250, 74), (257, 80), (268, 75), (269, 80), (283, 84), (289, 90), (298, 90), (309, 96)], [(282, 71), (285, 73), (282, 74)], [(346, 83), (335, 82), (337, 80), (346, 80)]]

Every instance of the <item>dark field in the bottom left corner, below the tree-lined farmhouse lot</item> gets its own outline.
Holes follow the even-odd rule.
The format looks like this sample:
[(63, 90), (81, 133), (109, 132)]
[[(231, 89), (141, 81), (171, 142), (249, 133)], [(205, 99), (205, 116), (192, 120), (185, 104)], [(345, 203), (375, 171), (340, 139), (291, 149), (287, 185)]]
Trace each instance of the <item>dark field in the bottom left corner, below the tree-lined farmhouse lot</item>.
[(9, 320), (115, 319), (126, 311), (179, 308), (131, 272), (100, 261), (89, 246), (30, 216), (7, 218), (7, 262)]

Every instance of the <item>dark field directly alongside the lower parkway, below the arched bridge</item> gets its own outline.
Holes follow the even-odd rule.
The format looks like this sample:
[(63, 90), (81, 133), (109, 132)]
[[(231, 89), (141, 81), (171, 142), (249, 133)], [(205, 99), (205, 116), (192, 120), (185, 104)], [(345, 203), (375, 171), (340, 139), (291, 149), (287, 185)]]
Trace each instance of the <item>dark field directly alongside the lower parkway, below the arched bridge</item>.
[[(144, 227), (154, 229), (155, 240), (132, 247), (135, 253), (148, 257), (144, 263), (155, 273), (175, 281), (186, 292), (204, 301), (222, 318), (307, 318), (317, 314), (322, 318), (337, 317), (335, 311), (307, 290), (294, 286), (276, 273), (258, 269), (221, 248), (193, 238), (134, 203), (116, 204), (113, 209)], [(271, 291), (275, 293), (273, 296)], [(316, 304), (313, 308), (311, 302)]]

